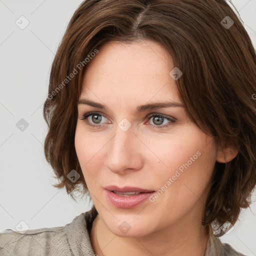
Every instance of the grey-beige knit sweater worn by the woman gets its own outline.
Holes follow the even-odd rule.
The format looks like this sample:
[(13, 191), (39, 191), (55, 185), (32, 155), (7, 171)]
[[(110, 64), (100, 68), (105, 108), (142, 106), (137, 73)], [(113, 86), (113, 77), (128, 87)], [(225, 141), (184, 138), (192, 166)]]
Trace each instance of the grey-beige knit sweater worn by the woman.
[[(0, 232), (0, 256), (95, 256), (89, 230), (96, 214), (89, 210), (65, 226), (28, 229), (24, 233), (5, 229)], [(210, 236), (205, 256), (244, 255)]]

